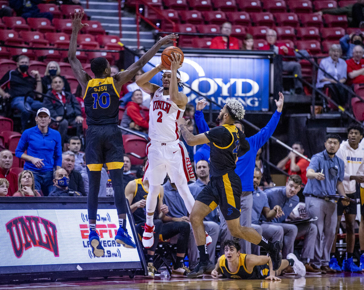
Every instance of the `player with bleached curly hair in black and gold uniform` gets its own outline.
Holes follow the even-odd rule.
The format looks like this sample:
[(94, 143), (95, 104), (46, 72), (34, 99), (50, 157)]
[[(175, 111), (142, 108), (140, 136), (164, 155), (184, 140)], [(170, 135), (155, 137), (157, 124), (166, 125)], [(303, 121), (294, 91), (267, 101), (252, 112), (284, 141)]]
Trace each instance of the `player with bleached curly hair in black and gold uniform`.
[[(280, 92), (280, 101), (283, 94)], [(278, 103), (277, 100), (275, 100)], [(241, 180), (235, 173), (236, 160), (249, 151), (249, 143), (245, 135), (236, 128), (234, 122), (244, 118), (245, 110), (235, 99), (227, 100), (218, 116), (220, 126), (199, 135), (193, 135), (187, 129), (185, 119), (178, 119), (177, 123), (186, 143), (190, 146), (210, 143), (210, 175), (211, 179), (196, 198), (190, 214), (196, 245), (199, 251), (199, 261), (187, 277), (194, 278), (214, 269), (206, 251), (206, 237), (203, 234), (203, 218), (219, 204), (227, 228), (237, 238), (245, 239), (255, 245), (264, 247), (272, 258), (273, 270), (277, 270), (282, 261), (282, 242), (267, 241), (251, 227), (240, 225), (240, 196), (242, 192)]]

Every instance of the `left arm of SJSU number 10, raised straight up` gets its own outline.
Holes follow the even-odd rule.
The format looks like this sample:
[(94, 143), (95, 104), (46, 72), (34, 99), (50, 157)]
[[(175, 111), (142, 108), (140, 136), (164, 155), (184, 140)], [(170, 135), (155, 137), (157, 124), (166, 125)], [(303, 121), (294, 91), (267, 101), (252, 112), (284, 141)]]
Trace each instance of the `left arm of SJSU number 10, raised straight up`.
[(76, 79), (82, 87), (82, 91), (84, 92), (86, 90), (87, 83), (91, 79), (91, 77), (87, 74), (87, 72), (83, 70), (82, 64), (76, 57), (78, 32), (83, 27), (88, 26), (88, 24), (86, 23), (81, 23), (83, 14), (83, 11), (76, 12), (75, 10), (74, 17), (72, 17), (72, 14), (70, 13), (70, 17), (72, 19), (72, 34), (70, 39), (70, 47), (68, 48), (68, 61), (70, 62), (70, 65), (72, 67), (73, 74), (75, 75)]

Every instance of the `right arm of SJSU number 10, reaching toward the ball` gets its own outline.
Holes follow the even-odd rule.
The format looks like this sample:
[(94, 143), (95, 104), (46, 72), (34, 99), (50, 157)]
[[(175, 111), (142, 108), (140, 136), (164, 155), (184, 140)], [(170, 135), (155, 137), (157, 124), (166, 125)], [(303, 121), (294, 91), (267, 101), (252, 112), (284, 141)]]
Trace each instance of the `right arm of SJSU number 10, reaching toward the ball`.
[(144, 65), (158, 52), (159, 48), (162, 45), (165, 45), (170, 42), (177, 42), (174, 39), (178, 38), (178, 34), (170, 34), (165, 37), (159, 37), (159, 40), (156, 44), (153, 45), (149, 51), (147, 51), (138, 61), (130, 65), (126, 70), (119, 72), (118, 74), (114, 75), (113, 78), (116, 80), (116, 85), (121, 88), (123, 84), (130, 81), (133, 76), (137, 74), (139, 70), (141, 70)]

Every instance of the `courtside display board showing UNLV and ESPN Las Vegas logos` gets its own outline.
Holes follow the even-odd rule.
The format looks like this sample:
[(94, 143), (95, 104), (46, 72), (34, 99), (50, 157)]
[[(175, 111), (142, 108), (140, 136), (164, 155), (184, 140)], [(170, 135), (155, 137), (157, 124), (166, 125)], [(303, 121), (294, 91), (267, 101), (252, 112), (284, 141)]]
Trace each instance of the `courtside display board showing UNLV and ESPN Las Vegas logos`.
[[(115, 209), (98, 210), (103, 257), (92, 254), (87, 210), (2, 210), (0, 216), (0, 273), (7, 273), (7, 266), (75, 264), (76, 270), (78, 263), (140, 262), (137, 249), (115, 242)], [(127, 229), (132, 237), (129, 221)]]

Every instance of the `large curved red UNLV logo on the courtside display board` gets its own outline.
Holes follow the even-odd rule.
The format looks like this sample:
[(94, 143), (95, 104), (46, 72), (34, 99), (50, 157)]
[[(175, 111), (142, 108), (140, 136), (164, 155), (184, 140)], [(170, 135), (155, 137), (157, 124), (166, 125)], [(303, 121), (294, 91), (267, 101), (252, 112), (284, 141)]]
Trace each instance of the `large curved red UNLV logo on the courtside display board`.
[(59, 257), (57, 228), (47, 219), (38, 216), (18, 216), (6, 224), (17, 258), (32, 246), (42, 247)]

